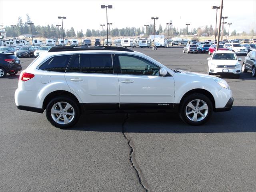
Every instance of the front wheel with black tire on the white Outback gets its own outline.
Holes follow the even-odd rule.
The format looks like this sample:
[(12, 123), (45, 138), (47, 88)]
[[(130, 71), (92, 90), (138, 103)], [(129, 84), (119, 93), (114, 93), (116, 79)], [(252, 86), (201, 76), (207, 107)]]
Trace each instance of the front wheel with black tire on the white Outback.
[[(199, 104), (197, 106), (198, 100), (199, 100)], [(189, 103), (192, 104), (193, 108), (190, 108), (188, 106)], [(200, 110), (200, 107), (202, 106), (206, 106), (207, 109)], [(190, 114), (187, 115), (187, 113), (190, 113)], [(201, 114), (203, 114), (204, 117)], [(181, 120), (184, 121), (186, 124), (193, 125), (193, 126), (202, 125), (206, 123), (212, 115), (212, 102), (204, 94), (194, 93), (194, 94), (188, 95), (186, 98), (184, 98), (184, 100), (180, 104), (179, 115)], [(196, 120), (198, 121), (193, 121), (190, 119), (194, 117), (196, 117)]]

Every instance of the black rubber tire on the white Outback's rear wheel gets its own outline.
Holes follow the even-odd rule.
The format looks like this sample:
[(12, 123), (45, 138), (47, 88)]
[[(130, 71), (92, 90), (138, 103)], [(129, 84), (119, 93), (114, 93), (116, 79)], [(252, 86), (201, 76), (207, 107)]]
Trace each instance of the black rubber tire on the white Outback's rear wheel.
[[(59, 102), (62, 102), (63, 105), (62, 105), (62, 109), (60, 109), (58, 106), (58, 108), (55, 108), (56, 104), (59, 103)], [(68, 103), (71, 105), (70, 108), (68, 108), (67, 111), (64, 111), (65, 110), (65, 103)], [(56, 110), (60, 110), (60, 112), (62, 112), (62, 114), (53, 114), (54, 117), (52, 117), (52, 114), (51, 114), (51, 110), (52, 108), (55, 108)], [(64, 109), (63, 109), (64, 108)], [(69, 123), (66, 123), (66, 124), (61, 124), (64, 122), (64, 116), (63, 116), (63, 112), (64, 112), (64, 116), (66, 116), (66, 118), (70, 118), (70, 122)], [(74, 112), (74, 116), (72, 118), (72, 116), (68, 116), (68, 114), (66, 115), (65, 113), (73, 113)], [(62, 115), (60, 118), (58, 118), (60, 115)], [(60, 122), (56, 122), (54, 120), (54, 118), (56, 117), (56, 120), (59, 119)], [(78, 104), (68, 98), (68, 97), (65, 97), (65, 96), (58, 96), (54, 99), (52, 99), (48, 104), (47, 104), (47, 107), (46, 107), (46, 118), (47, 120), (50, 122), (50, 124), (52, 124), (53, 126), (57, 127), (57, 128), (61, 128), (61, 129), (65, 129), (65, 128), (69, 128), (71, 126), (74, 126), (76, 124), (76, 122), (78, 121), (80, 117), (80, 111), (79, 111), (79, 108), (78, 108)]]

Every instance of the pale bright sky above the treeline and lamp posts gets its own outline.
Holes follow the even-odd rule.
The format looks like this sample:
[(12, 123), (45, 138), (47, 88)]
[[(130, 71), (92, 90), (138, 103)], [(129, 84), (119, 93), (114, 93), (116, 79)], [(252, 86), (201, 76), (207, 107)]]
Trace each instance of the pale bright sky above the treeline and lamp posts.
[[(184, 28), (189, 23), (191, 28), (215, 26), (216, 10), (211, 6), (220, 6), (221, 0), (0, 0), (0, 23), (4, 26), (17, 24), (21, 16), (26, 22), (29, 14), (35, 25), (61, 24), (58, 16), (66, 16), (63, 20), (65, 29), (74, 30), (101, 29), (106, 24), (106, 9), (100, 5), (112, 5), (108, 9), (108, 22), (111, 28), (140, 27), (153, 24), (151, 17), (165, 28), (172, 20), (176, 28)], [(232, 23), (230, 32), (251, 29), (256, 31), (256, 0), (224, 0), (222, 16), (228, 16), (224, 22)], [(219, 15), (219, 11), (218, 11)], [(226, 30), (228, 28), (226, 27)]]

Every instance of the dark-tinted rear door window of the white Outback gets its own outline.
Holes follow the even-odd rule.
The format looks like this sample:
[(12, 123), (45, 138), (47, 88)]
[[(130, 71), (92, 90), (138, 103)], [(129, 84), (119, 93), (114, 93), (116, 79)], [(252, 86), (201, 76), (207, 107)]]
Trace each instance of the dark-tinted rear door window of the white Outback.
[(111, 54), (80, 54), (81, 73), (113, 74)]

